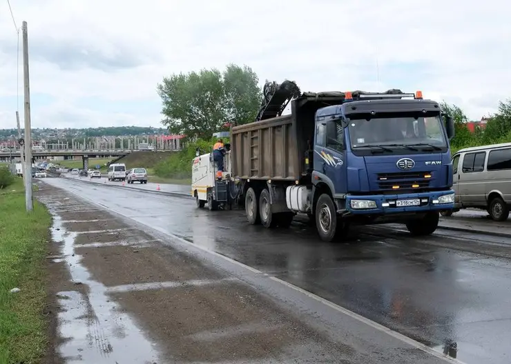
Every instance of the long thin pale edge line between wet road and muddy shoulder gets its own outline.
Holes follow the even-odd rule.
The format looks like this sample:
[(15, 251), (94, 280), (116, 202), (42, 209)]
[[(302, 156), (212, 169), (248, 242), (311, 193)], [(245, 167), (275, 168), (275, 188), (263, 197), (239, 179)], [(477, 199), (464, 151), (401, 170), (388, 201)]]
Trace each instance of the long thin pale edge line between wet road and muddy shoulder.
[[(68, 190), (69, 191), (69, 190)], [(79, 194), (77, 194), (77, 192), (72, 192), (72, 191), (69, 191), (70, 193), (73, 193), (75, 194), (76, 196), (78, 196), (79, 198), (81, 199), (84, 199), (86, 201), (89, 201), (90, 203), (93, 203), (95, 205), (100, 205), (99, 203), (97, 203), (96, 201), (92, 200), (92, 199), (88, 199), (87, 197), (84, 197), (84, 196), (80, 196)], [(124, 216), (126, 218), (130, 218), (130, 216), (126, 215), (126, 214), (123, 214), (122, 212), (117, 212), (115, 211), (116, 214), (119, 214), (121, 216)], [(175, 234), (172, 234), (171, 232), (168, 232), (162, 228), (155, 228), (155, 227), (152, 227), (152, 229), (154, 230), (158, 230), (168, 236), (171, 236), (173, 239), (176, 239), (177, 241), (180, 241), (182, 243), (185, 243), (187, 245), (191, 245), (195, 248), (199, 248), (200, 250), (204, 250), (204, 252), (208, 252), (210, 254), (213, 254), (214, 256), (218, 256), (222, 259), (225, 259), (226, 261), (229, 261), (235, 265), (238, 265), (240, 267), (244, 267), (245, 269), (251, 271), (251, 272), (254, 272), (254, 273), (258, 273), (258, 274), (261, 274), (262, 276), (264, 276), (264, 273), (260, 270), (256, 270), (255, 268), (253, 267), (250, 267), (249, 265), (245, 265), (243, 263), (240, 263), (239, 261), (235, 261), (234, 259), (231, 259), (229, 258), (228, 256), (224, 256), (220, 253), (217, 253), (217, 252), (213, 252), (212, 250), (208, 250), (206, 247), (201, 247), (200, 245), (197, 245), (197, 244), (194, 244), (194, 243), (191, 243), (190, 241), (186, 241), (186, 239), (182, 239), (180, 236), (177, 236)], [(379, 332), (383, 332), (385, 334), (388, 334), (389, 336), (392, 336), (400, 341), (403, 341), (403, 343), (407, 343), (408, 345), (412, 346), (412, 347), (415, 347), (416, 349), (418, 350), (422, 350), (423, 352), (426, 352), (427, 354), (430, 354), (432, 356), (435, 356), (436, 358), (440, 358), (441, 360), (447, 362), (447, 363), (453, 363), (453, 364), (466, 364), (464, 363), (463, 361), (460, 361), (459, 359), (456, 359), (456, 358), (451, 358), (450, 356), (447, 356), (441, 352), (438, 352), (434, 349), (432, 349), (431, 347), (428, 347), (427, 345), (424, 345), (423, 343), (419, 343), (418, 341), (415, 341), (414, 339), (412, 338), (409, 338), (403, 334), (399, 334), (398, 332), (392, 330), (392, 329), (389, 329), (389, 327), (385, 327), (383, 325), (380, 325), (379, 323), (376, 323), (375, 321), (372, 321), (372, 320), (369, 320), (367, 318), (365, 318), (364, 316), (360, 316), (359, 314), (356, 314), (355, 312), (353, 311), (350, 311), (350, 310), (347, 310), (346, 308), (344, 307), (341, 307), (340, 305), (336, 305), (336, 303), (333, 303), (331, 301), (328, 301), (326, 299), (322, 299), (320, 296), (317, 296), (316, 294), (314, 293), (311, 293), (311, 292), (308, 292), (306, 290), (302, 290), (302, 288), (300, 287), (297, 287), (296, 285), (293, 285), (291, 283), (288, 283), (286, 281), (282, 281), (282, 279), (278, 279), (276, 277), (273, 277), (273, 276), (269, 276), (269, 279), (273, 280), (273, 281), (276, 281), (278, 283), (281, 283), (282, 285), (285, 285), (289, 288), (291, 288), (292, 290), (296, 290), (302, 294), (305, 294), (306, 296), (308, 296), (309, 298), (311, 299), (314, 299), (315, 301), (318, 301), (320, 303), (323, 303), (324, 305), (326, 305), (327, 307), (330, 307), (331, 309), (333, 310), (336, 310), (338, 312), (341, 312), (343, 314), (346, 314), (347, 316), (351, 317), (352, 319), (355, 319), (357, 321), (359, 321), (360, 323), (365, 323), (365, 325), (369, 325), (370, 327), (373, 327), (375, 330), (378, 330)]]

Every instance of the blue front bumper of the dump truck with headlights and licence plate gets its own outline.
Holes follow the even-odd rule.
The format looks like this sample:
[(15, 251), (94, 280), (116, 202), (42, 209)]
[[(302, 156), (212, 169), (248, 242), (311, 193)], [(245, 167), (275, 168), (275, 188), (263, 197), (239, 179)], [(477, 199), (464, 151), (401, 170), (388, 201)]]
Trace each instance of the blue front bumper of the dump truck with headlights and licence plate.
[(454, 208), (454, 190), (412, 194), (347, 195), (344, 214), (416, 214), (452, 208)]

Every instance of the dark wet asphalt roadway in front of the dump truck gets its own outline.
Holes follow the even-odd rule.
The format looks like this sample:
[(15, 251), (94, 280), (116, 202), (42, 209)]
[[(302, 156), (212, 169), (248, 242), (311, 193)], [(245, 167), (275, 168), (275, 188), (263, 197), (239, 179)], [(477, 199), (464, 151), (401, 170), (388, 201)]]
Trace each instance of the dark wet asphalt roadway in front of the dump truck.
[[(454, 342), (457, 358), (465, 363), (511, 362), (511, 264), (504, 258), (509, 239), (456, 232), (412, 239), (396, 230), (365, 227), (352, 244), (335, 245), (321, 243), (305, 224), (269, 231), (249, 225), (242, 211), (209, 212), (171, 196), (66, 179), (47, 182), (436, 350)], [(491, 256), (485, 254), (487, 245)]]

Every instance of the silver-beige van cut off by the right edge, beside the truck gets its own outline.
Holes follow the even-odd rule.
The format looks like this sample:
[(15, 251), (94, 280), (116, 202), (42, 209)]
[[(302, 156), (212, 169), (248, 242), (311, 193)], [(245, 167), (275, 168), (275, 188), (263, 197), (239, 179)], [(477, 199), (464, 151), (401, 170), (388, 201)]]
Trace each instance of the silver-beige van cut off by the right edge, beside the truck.
[(488, 211), (494, 221), (508, 219), (511, 209), (511, 143), (459, 150), (452, 157), (454, 210)]

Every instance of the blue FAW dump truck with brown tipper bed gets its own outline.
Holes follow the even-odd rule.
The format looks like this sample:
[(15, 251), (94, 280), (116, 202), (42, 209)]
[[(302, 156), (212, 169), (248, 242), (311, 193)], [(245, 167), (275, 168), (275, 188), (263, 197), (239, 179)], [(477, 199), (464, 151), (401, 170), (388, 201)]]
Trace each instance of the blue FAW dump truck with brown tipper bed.
[(292, 81), (267, 83), (257, 120), (231, 128), (228, 170), (208, 201), (238, 199), (249, 223), (266, 228), (308, 214), (322, 241), (342, 240), (352, 224), (432, 234), (439, 212), (454, 208), (452, 136), (452, 118), (420, 91), (302, 93)]

